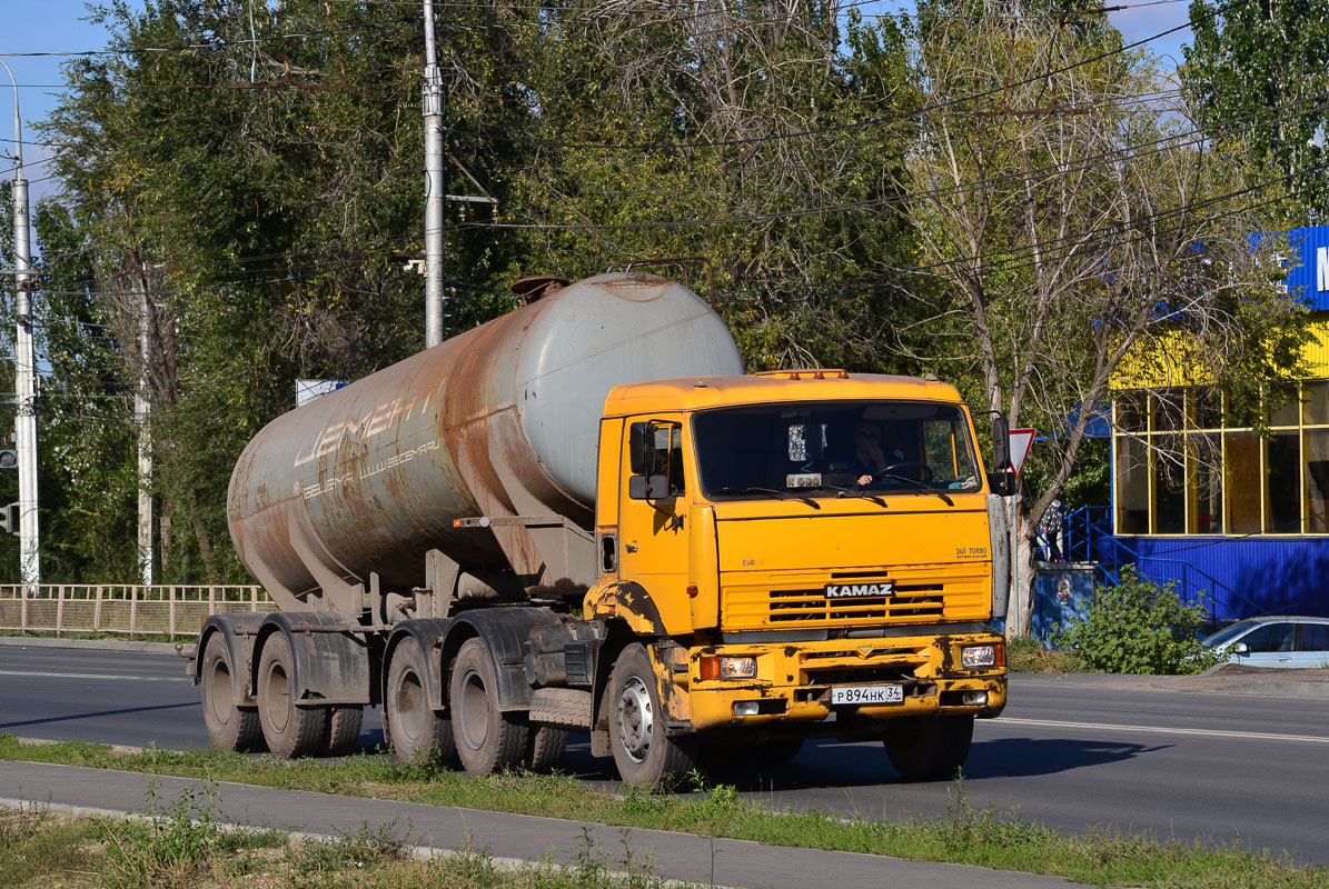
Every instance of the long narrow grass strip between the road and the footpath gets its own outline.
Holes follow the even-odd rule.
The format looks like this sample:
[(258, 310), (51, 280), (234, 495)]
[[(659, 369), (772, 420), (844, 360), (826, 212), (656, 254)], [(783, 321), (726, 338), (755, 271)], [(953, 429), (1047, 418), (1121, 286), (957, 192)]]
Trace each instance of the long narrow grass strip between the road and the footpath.
[(1014, 813), (973, 808), (962, 780), (952, 788), (945, 815), (873, 821), (816, 811), (776, 812), (739, 799), (732, 785), (707, 785), (698, 773), (690, 793), (635, 788), (614, 792), (561, 775), (504, 772), (474, 777), (428, 763), (403, 765), (379, 755), (292, 761), (211, 749), (125, 753), (84, 741), (20, 744), (13, 735), (3, 734), (0, 757), (970, 864), (1057, 874), (1090, 885), (1329, 889), (1325, 868), (1298, 868), (1286, 856), (1236, 841), (1183, 842), (1111, 832), (1063, 836)]

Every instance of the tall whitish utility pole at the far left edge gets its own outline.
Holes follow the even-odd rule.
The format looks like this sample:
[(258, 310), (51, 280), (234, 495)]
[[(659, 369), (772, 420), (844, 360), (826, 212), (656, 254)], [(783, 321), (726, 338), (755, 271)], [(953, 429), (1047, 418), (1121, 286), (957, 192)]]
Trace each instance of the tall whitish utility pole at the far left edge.
[(19, 81), (13, 82), (13, 267), (15, 267), (15, 437), (19, 452), (19, 574), (24, 583), (41, 583), (37, 551), (37, 367), (32, 344), (32, 229), (28, 225), (28, 179), (23, 175), (23, 118)]

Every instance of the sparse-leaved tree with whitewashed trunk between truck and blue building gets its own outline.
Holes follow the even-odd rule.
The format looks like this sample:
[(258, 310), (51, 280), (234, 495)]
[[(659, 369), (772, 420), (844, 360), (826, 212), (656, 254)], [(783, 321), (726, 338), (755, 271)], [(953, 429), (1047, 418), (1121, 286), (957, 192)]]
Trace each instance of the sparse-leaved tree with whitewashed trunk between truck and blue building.
[(1010, 631), (1027, 633), (1034, 529), (1110, 385), (1207, 383), (1249, 411), (1261, 385), (1293, 385), (1306, 312), (1269, 239), (1252, 245), (1264, 219), (1231, 183), (1239, 146), (1205, 141), (1114, 29), (981, 1), (924, 7), (916, 39), (909, 274), (934, 311), (902, 346), (1051, 433), (1018, 517)]

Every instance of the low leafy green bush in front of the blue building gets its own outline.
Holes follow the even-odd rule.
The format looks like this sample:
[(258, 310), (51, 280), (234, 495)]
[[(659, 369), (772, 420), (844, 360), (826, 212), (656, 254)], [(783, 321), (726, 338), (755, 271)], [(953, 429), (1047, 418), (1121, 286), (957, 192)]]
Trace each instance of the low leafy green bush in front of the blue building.
[(1094, 587), (1094, 601), (1084, 614), (1066, 627), (1054, 627), (1054, 643), (1092, 670), (1200, 672), (1219, 659), (1200, 646), (1207, 619), (1203, 606), (1181, 601), (1175, 582), (1160, 587), (1128, 565), (1116, 586)]

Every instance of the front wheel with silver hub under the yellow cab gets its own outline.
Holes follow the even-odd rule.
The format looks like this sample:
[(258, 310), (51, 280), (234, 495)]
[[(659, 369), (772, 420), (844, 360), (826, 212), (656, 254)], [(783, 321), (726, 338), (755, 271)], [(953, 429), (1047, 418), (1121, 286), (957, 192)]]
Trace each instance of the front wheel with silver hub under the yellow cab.
[(655, 671), (641, 643), (623, 648), (609, 678), (609, 743), (626, 784), (662, 784), (696, 761), (695, 744), (664, 736)]

